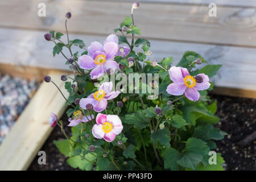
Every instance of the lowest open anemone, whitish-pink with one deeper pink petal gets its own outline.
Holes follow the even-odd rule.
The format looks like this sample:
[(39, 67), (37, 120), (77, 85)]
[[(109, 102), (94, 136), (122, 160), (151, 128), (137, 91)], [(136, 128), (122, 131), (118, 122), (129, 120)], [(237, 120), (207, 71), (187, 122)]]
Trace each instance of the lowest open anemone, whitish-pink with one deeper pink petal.
[(104, 138), (107, 142), (112, 142), (115, 135), (119, 135), (122, 130), (123, 125), (118, 115), (98, 113), (96, 124), (92, 128), (92, 134), (95, 138)]

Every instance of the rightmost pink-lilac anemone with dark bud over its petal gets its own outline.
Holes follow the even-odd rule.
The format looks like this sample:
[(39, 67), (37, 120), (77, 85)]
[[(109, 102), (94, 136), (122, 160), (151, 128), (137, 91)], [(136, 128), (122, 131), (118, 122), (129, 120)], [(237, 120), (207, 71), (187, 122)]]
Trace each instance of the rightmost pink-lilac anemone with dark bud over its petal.
[(197, 90), (206, 90), (210, 87), (209, 77), (204, 73), (200, 73), (203, 80), (196, 82), (196, 79), (189, 75), (187, 68), (171, 67), (169, 69), (170, 78), (173, 81), (167, 86), (166, 91), (174, 96), (185, 96), (191, 101), (198, 101), (200, 93)]

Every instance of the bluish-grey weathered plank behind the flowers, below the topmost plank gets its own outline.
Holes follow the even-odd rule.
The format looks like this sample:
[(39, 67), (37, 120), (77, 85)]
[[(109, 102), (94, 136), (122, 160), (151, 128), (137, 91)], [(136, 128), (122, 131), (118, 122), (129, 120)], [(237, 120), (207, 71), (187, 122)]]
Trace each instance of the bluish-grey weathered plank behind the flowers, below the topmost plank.
[[(43, 34), (43, 31), (0, 29), (0, 39), (2, 37), (6, 39), (6, 41), (0, 41), (0, 49), (2, 50), (0, 62), (14, 63), (19, 67), (20, 65), (30, 65), (32, 67), (68, 70), (62, 55), (52, 56), (53, 43), (44, 40)], [(85, 40), (86, 45), (89, 46), (90, 42), (95, 40), (104, 42), (105, 36), (71, 34), (70, 38)], [(65, 41), (65, 38), (63, 39)], [(216, 86), (256, 90), (256, 80), (253, 79), (256, 77), (255, 48), (160, 40), (150, 40), (150, 42), (150, 49), (153, 52), (151, 59), (162, 60), (163, 57), (172, 56), (175, 65), (185, 51), (195, 51), (200, 53), (210, 64), (223, 65), (218, 75), (212, 79)], [(76, 50), (79, 48), (75, 47)], [(26, 55), (27, 52), (29, 52), (28, 55)], [(64, 50), (64, 53), (69, 55), (67, 49)]]

